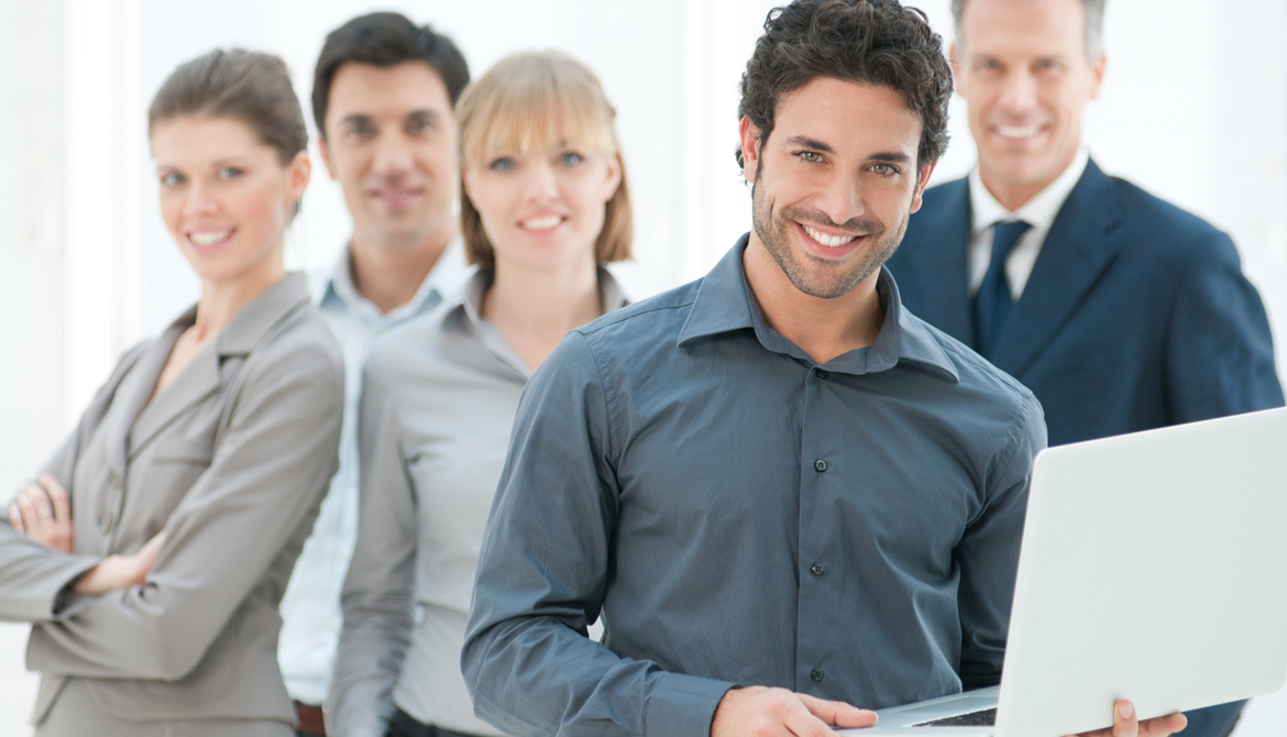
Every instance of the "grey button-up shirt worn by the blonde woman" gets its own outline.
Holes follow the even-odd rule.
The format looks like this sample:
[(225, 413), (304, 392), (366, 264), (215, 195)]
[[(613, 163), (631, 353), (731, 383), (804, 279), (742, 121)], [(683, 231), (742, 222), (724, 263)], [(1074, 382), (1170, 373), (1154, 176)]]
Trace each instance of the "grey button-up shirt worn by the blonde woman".
[[(530, 372), (480, 315), (492, 273), (376, 343), (362, 392), (362, 508), (344, 583), (332, 731), (384, 737), (393, 705), (474, 734), (459, 656), (474, 569)], [(600, 269), (604, 307), (623, 304)]]

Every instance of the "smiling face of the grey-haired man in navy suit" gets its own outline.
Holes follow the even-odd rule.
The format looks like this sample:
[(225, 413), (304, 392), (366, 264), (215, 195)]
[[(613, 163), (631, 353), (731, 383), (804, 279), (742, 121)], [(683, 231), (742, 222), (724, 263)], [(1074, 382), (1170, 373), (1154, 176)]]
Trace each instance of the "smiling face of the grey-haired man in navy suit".
[(1076, 157), (1104, 58), (1086, 58), (1081, 0), (969, 0), (960, 37), (952, 68), (969, 104), (979, 176), (1013, 211)]

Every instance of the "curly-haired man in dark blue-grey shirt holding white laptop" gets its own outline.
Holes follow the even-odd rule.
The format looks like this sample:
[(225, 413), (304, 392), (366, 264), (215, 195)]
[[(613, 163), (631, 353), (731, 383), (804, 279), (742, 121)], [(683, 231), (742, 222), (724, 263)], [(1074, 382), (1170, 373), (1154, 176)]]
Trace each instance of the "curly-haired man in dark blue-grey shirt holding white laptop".
[[(480, 716), (824, 737), (997, 683), (1041, 410), (882, 268), (950, 94), (893, 0), (770, 14), (739, 111), (752, 233), (573, 331), (524, 395), (462, 652)], [(1103, 709), (1116, 737), (1184, 725)]]

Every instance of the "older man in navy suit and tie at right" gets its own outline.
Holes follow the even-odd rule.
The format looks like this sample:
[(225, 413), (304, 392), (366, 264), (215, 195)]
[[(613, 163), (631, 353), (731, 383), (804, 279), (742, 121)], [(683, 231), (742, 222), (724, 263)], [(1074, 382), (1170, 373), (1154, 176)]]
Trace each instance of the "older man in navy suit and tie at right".
[[(903, 304), (1027, 385), (1050, 444), (1281, 406), (1232, 241), (1104, 175), (1081, 143), (1104, 0), (954, 0), (978, 166), (929, 189), (888, 261)], [(1229, 732), (1242, 704), (1189, 714)]]

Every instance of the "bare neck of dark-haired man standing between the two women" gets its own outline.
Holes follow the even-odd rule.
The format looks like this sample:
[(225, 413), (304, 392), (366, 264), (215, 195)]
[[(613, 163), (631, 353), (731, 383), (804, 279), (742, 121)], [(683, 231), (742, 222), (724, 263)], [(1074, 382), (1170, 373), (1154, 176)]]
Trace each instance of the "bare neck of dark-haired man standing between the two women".
[(447, 226), (416, 246), (395, 247), (354, 233), (349, 242), (354, 288), (381, 313), (391, 313), (416, 296), (454, 234), (454, 226)]

